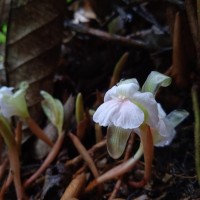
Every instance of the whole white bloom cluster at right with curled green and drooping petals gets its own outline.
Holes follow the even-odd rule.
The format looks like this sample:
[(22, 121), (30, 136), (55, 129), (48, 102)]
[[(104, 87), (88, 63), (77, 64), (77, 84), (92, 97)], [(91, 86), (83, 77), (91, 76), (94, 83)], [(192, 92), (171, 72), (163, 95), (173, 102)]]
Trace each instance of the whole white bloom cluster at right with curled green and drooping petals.
[(164, 146), (171, 142), (175, 126), (188, 113), (181, 114), (181, 120), (173, 124), (156, 102), (154, 95), (158, 88), (170, 83), (170, 77), (151, 72), (141, 91), (136, 79), (128, 79), (120, 81), (106, 92), (104, 103), (94, 113), (93, 120), (101, 126), (108, 126), (107, 148), (113, 158), (123, 154), (132, 131), (141, 136), (143, 124), (150, 127), (154, 146)]

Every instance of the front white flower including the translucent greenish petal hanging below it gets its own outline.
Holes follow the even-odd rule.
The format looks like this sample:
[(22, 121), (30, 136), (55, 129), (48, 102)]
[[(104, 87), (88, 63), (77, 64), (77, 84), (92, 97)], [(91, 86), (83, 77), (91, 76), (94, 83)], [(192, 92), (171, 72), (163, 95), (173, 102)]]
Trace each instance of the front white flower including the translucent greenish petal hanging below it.
[(113, 158), (119, 158), (132, 130), (142, 124), (157, 127), (157, 102), (151, 92), (139, 91), (136, 79), (120, 81), (106, 92), (104, 103), (94, 113), (93, 120), (108, 126), (108, 152)]

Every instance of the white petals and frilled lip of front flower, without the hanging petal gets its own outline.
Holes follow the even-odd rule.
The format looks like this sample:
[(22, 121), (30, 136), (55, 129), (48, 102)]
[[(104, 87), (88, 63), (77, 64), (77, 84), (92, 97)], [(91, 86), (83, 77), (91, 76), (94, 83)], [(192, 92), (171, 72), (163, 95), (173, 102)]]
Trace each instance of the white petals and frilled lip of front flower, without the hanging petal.
[(101, 126), (123, 129), (138, 128), (142, 123), (156, 126), (157, 103), (152, 93), (139, 91), (136, 79), (121, 81), (106, 92), (104, 103), (94, 113), (93, 120)]

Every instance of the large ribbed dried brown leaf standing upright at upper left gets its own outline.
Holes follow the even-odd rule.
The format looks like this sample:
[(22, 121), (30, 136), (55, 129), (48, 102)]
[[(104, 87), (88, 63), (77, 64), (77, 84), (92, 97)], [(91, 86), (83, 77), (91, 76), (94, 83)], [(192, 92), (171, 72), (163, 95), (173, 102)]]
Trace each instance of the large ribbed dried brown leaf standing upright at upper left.
[(9, 86), (30, 85), (31, 116), (41, 122), (40, 90), (52, 92), (62, 39), (62, 0), (13, 1), (8, 24), (6, 76)]

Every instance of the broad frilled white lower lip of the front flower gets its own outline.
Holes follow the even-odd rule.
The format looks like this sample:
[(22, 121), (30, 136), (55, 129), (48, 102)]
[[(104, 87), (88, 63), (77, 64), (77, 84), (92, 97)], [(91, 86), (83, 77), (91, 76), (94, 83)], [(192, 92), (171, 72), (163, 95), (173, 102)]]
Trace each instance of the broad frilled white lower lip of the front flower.
[(114, 125), (132, 129), (143, 123), (144, 113), (128, 100), (110, 100), (99, 106), (93, 115), (93, 120), (101, 126)]

